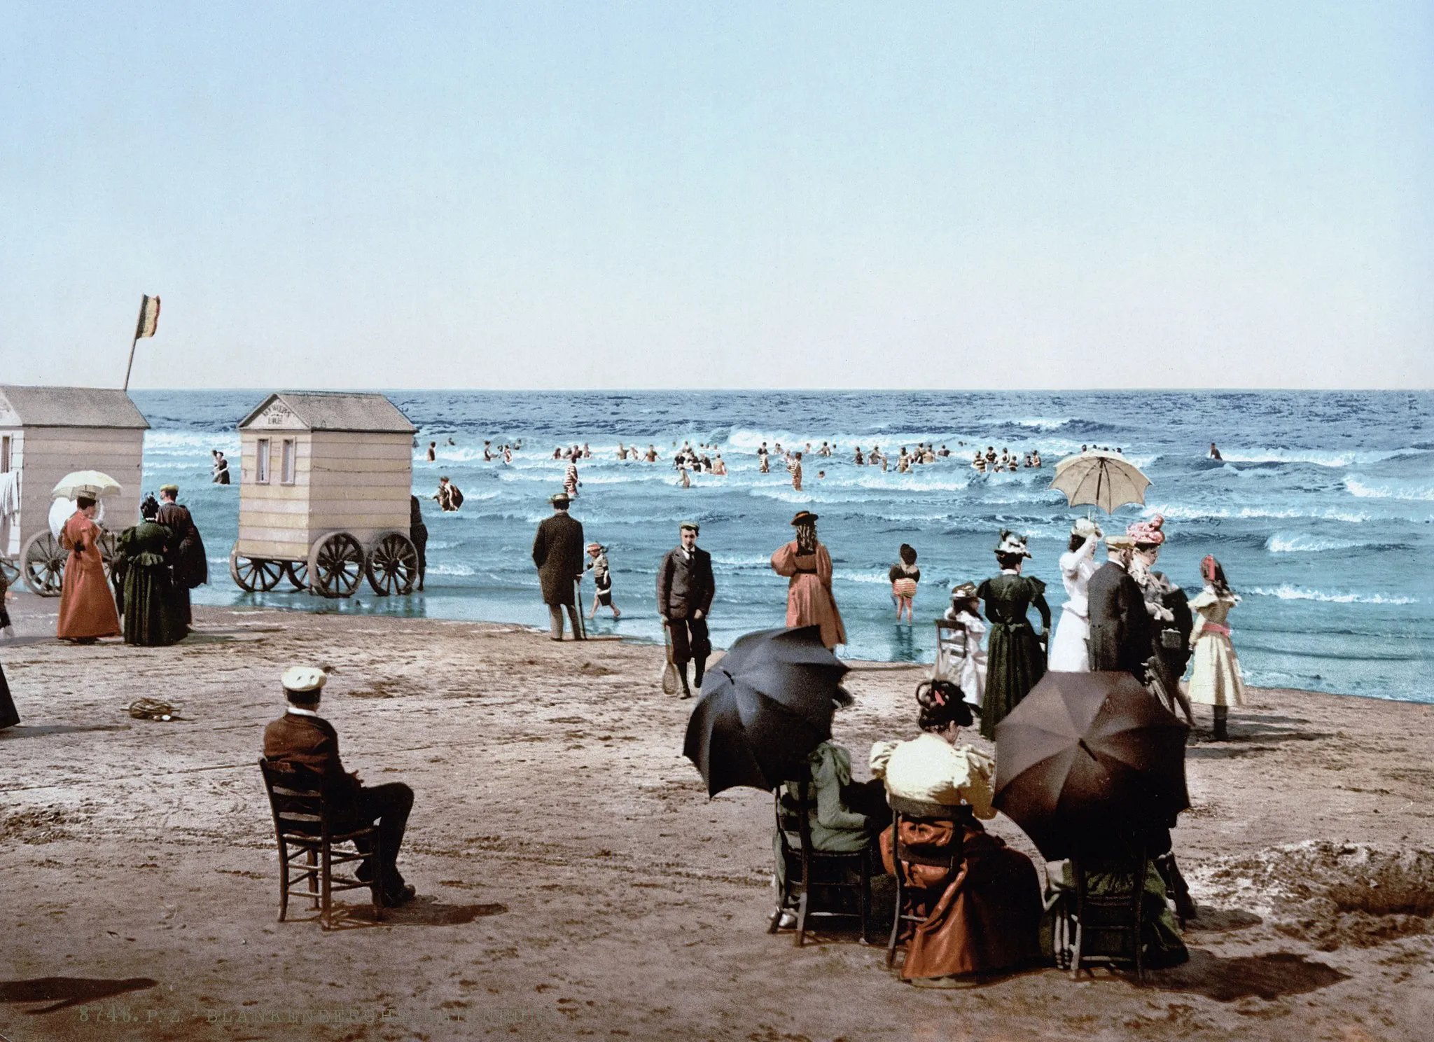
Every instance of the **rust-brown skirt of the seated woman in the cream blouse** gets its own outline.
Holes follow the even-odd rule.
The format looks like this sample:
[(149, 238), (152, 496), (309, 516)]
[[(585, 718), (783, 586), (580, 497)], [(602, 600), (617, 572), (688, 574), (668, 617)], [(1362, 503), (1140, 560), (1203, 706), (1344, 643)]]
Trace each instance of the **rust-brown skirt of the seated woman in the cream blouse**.
[[(1041, 887), (1031, 859), (1011, 850), (977, 821), (964, 830), (964, 859), (955, 874), (928, 866), (902, 864), (902, 886), (915, 887), (919, 913), (909, 929), (901, 975), (939, 978), (951, 973), (997, 973), (1040, 959)], [(902, 841), (932, 850), (949, 846), (952, 823), (903, 823)], [(892, 861), (892, 830), (882, 833), (882, 861)]]

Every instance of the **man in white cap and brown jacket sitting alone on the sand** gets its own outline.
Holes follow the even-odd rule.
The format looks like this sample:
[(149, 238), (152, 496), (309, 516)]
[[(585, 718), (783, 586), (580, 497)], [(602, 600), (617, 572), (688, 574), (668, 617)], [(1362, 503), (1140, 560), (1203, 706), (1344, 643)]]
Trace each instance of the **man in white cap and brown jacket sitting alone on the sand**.
[[(295, 665), (284, 671), (284, 697), (288, 711), (264, 728), (264, 757), (271, 764), (307, 768), (323, 778), (324, 798), (338, 816), (338, 827), (360, 828), (379, 823), (383, 847), (383, 893), (374, 892), (386, 907), (413, 900), (413, 887), (399, 874), (399, 847), (413, 808), (413, 790), (402, 781), (364, 785), (357, 774), (344, 770), (338, 760), (338, 732), (318, 715), (318, 698), (328, 674), (314, 666)], [(360, 846), (364, 850), (363, 846)], [(370, 853), (364, 850), (364, 853)], [(357, 877), (374, 879), (373, 859), (358, 863)]]

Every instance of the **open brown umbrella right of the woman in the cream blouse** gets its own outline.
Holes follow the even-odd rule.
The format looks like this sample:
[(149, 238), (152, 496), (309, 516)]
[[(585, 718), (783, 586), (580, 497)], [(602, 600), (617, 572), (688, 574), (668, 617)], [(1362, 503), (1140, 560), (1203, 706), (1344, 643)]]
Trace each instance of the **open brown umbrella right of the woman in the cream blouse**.
[(1190, 806), (1189, 728), (1127, 672), (1048, 672), (995, 728), (995, 806), (1050, 860)]

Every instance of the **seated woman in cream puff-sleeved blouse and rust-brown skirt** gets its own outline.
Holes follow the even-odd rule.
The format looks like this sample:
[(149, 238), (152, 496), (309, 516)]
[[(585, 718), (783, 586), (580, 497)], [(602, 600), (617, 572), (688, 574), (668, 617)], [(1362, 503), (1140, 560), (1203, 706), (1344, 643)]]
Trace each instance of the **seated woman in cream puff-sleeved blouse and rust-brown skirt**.
[(972, 721), (961, 688), (929, 681), (916, 688), (918, 724), (912, 741), (872, 745), (872, 774), (905, 800), (965, 807), (958, 821), (903, 821), (902, 843), (945, 847), (961, 830), (962, 861), (955, 871), (892, 860), (892, 833), (882, 834), (886, 870), (905, 873), (905, 886), (923, 899), (926, 919), (908, 945), (901, 975), (922, 988), (961, 988), (975, 975), (1012, 970), (1040, 959), (1041, 892), (1031, 859), (981, 827), (992, 818), (995, 764), (971, 745), (958, 745)]

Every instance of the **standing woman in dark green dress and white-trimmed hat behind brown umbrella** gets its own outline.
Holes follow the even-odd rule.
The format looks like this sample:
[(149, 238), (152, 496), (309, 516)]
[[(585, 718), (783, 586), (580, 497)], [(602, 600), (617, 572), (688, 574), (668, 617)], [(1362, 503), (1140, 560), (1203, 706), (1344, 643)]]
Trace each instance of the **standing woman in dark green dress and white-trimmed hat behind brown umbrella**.
[[(981, 712), (981, 734), (995, 738), (995, 725), (1014, 709), (1035, 682), (1045, 675), (1045, 645), (1051, 632), (1051, 609), (1045, 603), (1045, 583), (1021, 575), (1021, 566), (1031, 552), (1025, 539), (1001, 529), (1001, 543), (995, 559), (1001, 575), (977, 588), (991, 621), (987, 645), (987, 688)], [(1041, 613), (1041, 636), (1035, 636), (1027, 609)]]

